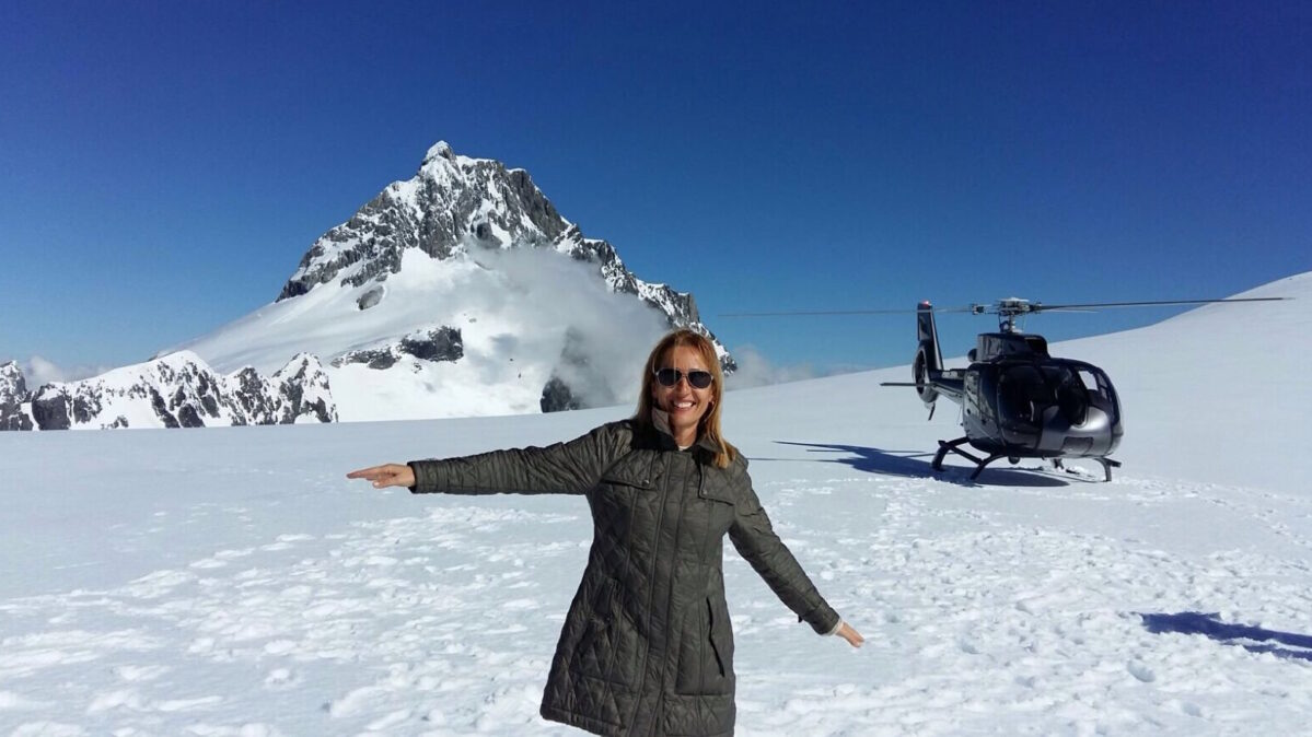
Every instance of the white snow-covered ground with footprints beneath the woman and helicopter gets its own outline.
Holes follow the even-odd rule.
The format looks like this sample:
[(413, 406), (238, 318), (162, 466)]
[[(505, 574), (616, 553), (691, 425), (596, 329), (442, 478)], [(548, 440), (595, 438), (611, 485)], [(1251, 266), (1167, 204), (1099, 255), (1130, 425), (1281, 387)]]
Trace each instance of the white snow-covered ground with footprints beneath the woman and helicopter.
[[(867, 639), (729, 553), (739, 733), (1307, 733), (1312, 274), (1258, 292), (1298, 299), (1054, 346), (1122, 392), (1110, 484), (932, 473), (955, 414), (878, 386), (907, 368), (731, 392), (777, 528)], [(627, 413), (4, 434), (0, 734), (575, 733), (537, 704), (583, 500), (342, 476)]]

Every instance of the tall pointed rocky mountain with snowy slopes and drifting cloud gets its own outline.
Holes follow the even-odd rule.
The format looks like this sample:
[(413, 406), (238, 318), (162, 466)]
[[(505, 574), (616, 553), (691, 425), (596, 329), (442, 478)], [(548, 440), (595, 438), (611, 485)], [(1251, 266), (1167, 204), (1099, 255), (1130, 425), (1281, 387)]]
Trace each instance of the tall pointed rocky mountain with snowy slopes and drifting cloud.
[(273, 304), (184, 348), (220, 371), (315, 354), (344, 420), (399, 420), (627, 404), (673, 327), (714, 341), (693, 295), (639, 279), (527, 172), (438, 142), (318, 239)]

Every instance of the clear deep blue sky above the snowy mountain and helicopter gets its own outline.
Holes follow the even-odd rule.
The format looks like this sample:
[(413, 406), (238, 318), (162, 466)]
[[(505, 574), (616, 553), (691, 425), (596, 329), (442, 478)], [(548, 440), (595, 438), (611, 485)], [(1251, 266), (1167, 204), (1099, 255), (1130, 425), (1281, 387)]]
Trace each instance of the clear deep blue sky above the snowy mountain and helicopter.
[(719, 315), (1312, 269), (1307, 3), (627, 5), (4, 3), (0, 361), (131, 363), (272, 302), (440, 139), (775, 366), (908, 362), (912, 317)]

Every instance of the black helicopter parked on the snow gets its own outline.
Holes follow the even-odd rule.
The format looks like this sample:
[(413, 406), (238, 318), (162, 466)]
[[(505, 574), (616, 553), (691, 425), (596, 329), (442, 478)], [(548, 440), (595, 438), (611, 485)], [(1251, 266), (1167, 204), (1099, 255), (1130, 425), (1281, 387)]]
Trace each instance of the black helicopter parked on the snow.
[[(1000, 459), (1012, 464), (1022, 458), (1050, 460), (1064, 469), (1063, 459), (1082, 458), (1099, 463), (1105, 481), (1111, 469), (1120, 467), (1109, 458), (1124, 434), (1120, 400), (1106, 371), (1072, 358), (1048, 353), (1043, 336), (1021, 332), (1017, 319), (1042, 311), (1080, 311), (1103, 307), (1140, 307), (1165, 304), (1206, 304), (1216, 302), (1270, 302), (1283, 298), (1232, 298), (1158, 302), (1113, 302), (1090, 304), (1054, 304), (1008, 298), (993, 304), (971, 304), (974, 315), (996, 313), (998, 330), (980, 333), (967, 358), (966, 368), (945, 368), (934, 323), (934, 307), (921, 302), (916, 307), (918, 345), (912, 361), (912, 382), (883, 382), (882, 386), (913, 387), (920, 400), (934, 416), (938, 397), (962, 407), (964, 435), (938, 441), (932, 467), (943, 469), (949, 452), (975, 463), (971, 480)], [(980, 458), (962, 448), (970, 445), (985, 454)]]

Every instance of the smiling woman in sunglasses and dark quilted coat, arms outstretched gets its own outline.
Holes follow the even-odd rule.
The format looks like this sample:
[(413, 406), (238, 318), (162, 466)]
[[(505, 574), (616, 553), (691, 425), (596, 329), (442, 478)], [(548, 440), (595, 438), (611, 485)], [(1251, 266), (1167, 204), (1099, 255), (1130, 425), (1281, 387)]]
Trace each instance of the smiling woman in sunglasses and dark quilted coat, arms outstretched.
[(386, 464), (374, 487), (588, 497), (588, 568), (560, 631), (542, 716), (597, 734), (733, 732), (733, 635), (720, 569), (739, 553), (799, 620), (863, 641), (820, 597), (770, 527), (747, 459), (720, 434), (715, 348), (691, 330), (647, 358), (638, 413), (550, 447)]

